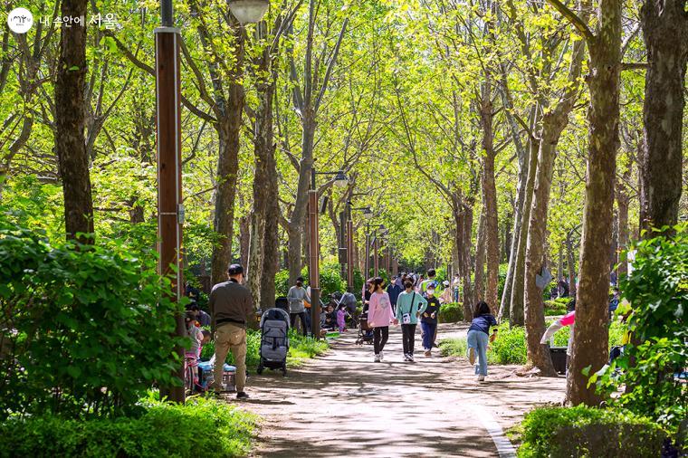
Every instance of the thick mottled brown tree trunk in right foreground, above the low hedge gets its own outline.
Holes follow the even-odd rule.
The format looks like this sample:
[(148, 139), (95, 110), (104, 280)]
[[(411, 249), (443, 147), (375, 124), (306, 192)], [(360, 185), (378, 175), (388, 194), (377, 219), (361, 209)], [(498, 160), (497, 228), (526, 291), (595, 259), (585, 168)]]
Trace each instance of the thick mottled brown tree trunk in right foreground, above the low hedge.
[(614, 210), (616, 149), (619, 145), (621, 5), (622, 0), (600, 2), (599, 31), (594, 39), (588, 40), (589, 156), (576, 301), (576, 334), (567, 379), (567, 399), (574, 406), (597, 406), (601, 401), (595, 384), (588, 387), (588, 378), (607, 363), (609, 351), (608, 253), (612, 228), (608, 217)]

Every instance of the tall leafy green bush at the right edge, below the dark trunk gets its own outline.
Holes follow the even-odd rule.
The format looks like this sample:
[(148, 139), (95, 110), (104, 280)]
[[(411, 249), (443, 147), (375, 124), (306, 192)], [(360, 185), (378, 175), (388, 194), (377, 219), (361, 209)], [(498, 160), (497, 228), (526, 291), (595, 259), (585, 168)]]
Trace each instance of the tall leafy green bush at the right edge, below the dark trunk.
[(635, 244), (634, 271), (621, 278), (623, 298), (631, 305), (616, 310), (628, 316), (635, 339), (604, 374), (590, 378), (607, 392), (625, 385), (618, 405), (671, 429), (688, 415), (688, 388), (674, 375), (688, 367), (688, 224), (674, 229), (674, 236)]

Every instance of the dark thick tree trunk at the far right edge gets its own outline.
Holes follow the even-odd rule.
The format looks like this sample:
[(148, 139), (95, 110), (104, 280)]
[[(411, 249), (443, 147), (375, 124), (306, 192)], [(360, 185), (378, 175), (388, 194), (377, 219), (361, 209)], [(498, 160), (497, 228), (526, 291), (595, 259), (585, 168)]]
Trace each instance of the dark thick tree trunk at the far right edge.
[(648, 63), (643, 106), (645, 154), (640, 157), (640, 228), (646, 230), (673, 226), (678, 217), (688, 12), (685, 0), (645, 0), (640, 15)]

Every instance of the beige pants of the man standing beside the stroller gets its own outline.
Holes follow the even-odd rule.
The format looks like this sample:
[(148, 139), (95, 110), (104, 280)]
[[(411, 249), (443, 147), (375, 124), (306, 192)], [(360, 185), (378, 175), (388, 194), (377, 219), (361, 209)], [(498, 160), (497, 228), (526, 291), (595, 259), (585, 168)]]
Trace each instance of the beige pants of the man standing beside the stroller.
[(246, 329), (233, 323), (223, 323), (215, 329), (215, 367), (213, 389), (222, 390), (223, 367), (227, 353), (232, 350), (236, 366), (236, 391), (244, 391), (246, 385)]

